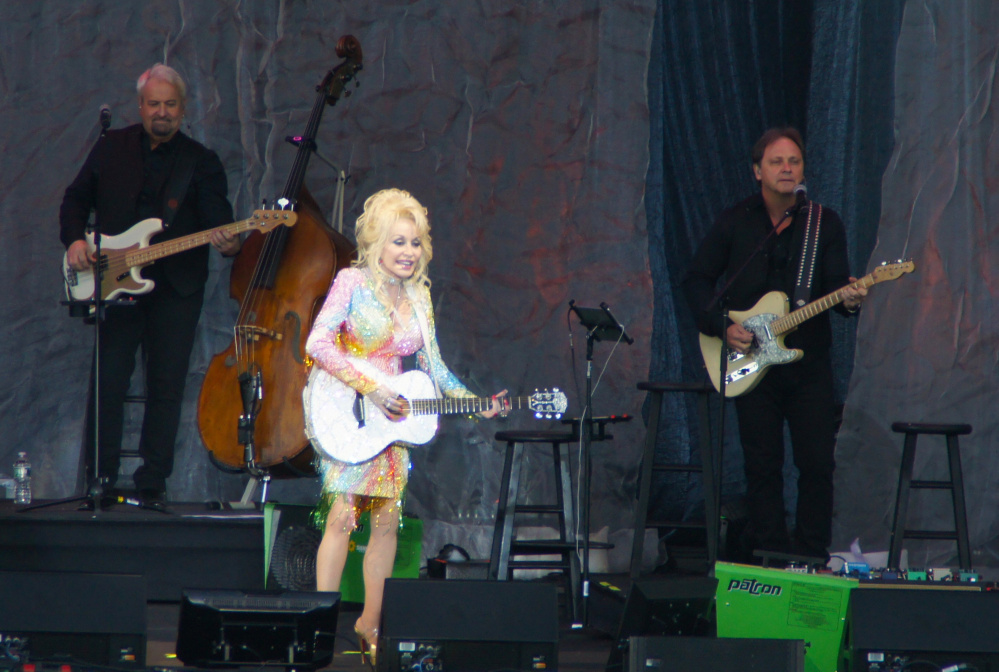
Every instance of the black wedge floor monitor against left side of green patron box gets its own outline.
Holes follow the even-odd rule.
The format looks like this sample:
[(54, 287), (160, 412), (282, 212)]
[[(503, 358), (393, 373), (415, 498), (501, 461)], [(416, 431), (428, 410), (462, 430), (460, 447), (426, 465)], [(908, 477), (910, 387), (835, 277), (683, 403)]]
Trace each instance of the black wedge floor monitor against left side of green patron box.
[(631, 584), (607, 660), (608, 672), (624, 666), (630, 637), (711, 637), (718, 580), (707, 576), (649, 577)]

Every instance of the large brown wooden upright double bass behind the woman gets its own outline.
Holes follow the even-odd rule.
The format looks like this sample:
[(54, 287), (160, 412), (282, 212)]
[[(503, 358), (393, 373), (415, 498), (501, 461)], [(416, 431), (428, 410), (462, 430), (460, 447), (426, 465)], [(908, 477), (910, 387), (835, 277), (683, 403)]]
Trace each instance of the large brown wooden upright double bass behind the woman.
[(278, 201), (297, 202), (298, 221), (251, 234), (236, 257), (230, 292), (240, 302), (233, 342), (212, 358), (198, 399), (201, 439), (217, 466), (289, 476), (311, 471), (302, 389), (308, 379), (305, 340), (333, 277), (354, 246), (330, 227), (304, 187), (323, 110), (361, 69), (361, 45), (340, 38), (344, 61), (317, 87), (309, 123)]

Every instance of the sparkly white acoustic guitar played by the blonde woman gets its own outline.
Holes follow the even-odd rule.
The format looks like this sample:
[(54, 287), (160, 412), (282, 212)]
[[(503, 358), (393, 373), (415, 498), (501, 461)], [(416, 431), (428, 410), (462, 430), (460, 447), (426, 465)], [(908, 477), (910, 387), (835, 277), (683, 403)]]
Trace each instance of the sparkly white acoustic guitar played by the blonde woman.
[[(305, 432), (312, 444), (334, 459), (357, 464), (397, 441), (413, 446), (427, 443), (437, 434), (438, 416), (479, 413), (492, 405), (491, 397), (437, 398), (433, 381), (422, 371), (389, 377), (387, 387), (404, 400), (401, 420), (389, 420), (367, 397), (313, 367), (302, 395)], [(530, 410), (537, 418), (561, 418), (568, 407), (558, 388), (501, 401), (505, 409)]]

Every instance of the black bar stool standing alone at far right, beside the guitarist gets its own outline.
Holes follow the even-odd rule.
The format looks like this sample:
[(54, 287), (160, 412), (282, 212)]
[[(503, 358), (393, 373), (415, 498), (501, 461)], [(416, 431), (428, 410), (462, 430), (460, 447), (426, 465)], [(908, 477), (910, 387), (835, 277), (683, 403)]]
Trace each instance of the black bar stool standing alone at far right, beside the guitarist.
[[(971, 425), (936, 425), (919, 422), (892, 423), (893, 432), (905, 434), (902, 448), (902, 466), (898, 475), (898, 492), (895, 496), (895, 520), (891, 526), (891, 545), (888, 550), (888, 567), (899, 569), (902, 544), (906, 539), (950, 539), (957, 542), (957, 555), (961, 569), (971, 569), (971, 545), (968, 543), (968, 517), (964, 503), (964, 476), (961, 471), (961, 451), (957, 437), (971, 433)], [(912, 467), (916, 460), (916, 439), (920, 434), (942, 435), (947, 439), (947, 461), (950, 480), (914, 481)], [(909, 491), (912, 489), (950, 490), (954, 504), (953, 530), (912, 530), (905, 527), (909, 508)]]

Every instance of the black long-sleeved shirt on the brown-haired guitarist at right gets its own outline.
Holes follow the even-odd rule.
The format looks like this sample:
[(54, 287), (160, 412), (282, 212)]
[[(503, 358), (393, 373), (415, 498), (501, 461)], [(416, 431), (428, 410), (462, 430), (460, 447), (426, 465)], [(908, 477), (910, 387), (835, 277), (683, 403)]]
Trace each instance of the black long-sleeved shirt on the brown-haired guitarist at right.
[[(813, 217), (817, 212), (818, 207), (813, 208)], [(701, 332), (710, 336), (722, 335), (722, 306), (716, 304), (710, 310), (709, 306), (716, 293), (728, 282), (729, 274), (737, 272), (743, 264), (745, 269), (726, 292), (729, 310), (748, 310), (764, 294), (772, 291), (784, 292), (789, 299), (794, 297), (807, 216), (808, 209), (802, 209), (790, 226), (762, 243), (762, 248), (750, 259), (773, 230), (762, 194), (754, 194), (719, 215), (701, 242), (681, 283)], [(835, 211), (823, 207), (809, 301), (836, 291), (849, 282), (846, 229)], [(791, 306), (791, 310), (794, 308)], [(836, 309), (846, 312), (842, 305)], [(785, 339), (787, 347), (803, 349), (808, 359), (828, 355), (831, 343), (828, 312), (806, 320)]]

